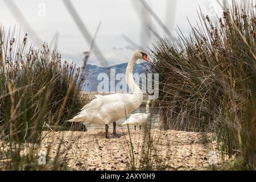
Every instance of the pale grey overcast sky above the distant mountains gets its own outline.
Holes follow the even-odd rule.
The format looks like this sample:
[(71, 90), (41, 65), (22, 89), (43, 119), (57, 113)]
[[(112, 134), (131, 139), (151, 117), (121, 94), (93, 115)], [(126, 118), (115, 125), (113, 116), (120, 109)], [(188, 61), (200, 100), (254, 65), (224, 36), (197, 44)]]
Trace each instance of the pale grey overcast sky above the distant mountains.
[[(143, 31), (143, 22), (150, 22), (155, 31), (161, 36), (166, 36), (138, 0), (71, 0), (71, 2), (90, 34), (94, 35), (98, 23), (101, 22), (96, 43), (109, 65), (125, 63), (133, 53), (131, 45), (123, 39), (123, 34), (140, 46), (150, 46), (150, 43), (154, 42), (156, 38), (151, 36), (151, 39), (148, 39), (147, 32)], [(195, 25), (198, 20), (199, 5), (205, 14), (213, 15), (212, 6), (218, 14), (221, 14), (221, 7), (215, 0), (147, 0), (146, 2), (171, 32), (175, 32), (178, 25), (185, 34), (189, 34), (191, 28), (187, 17)], [(88, 51), (90, 46), (82, 38), (63, 1), (15, 0), (14, 3), (43, 42), (51, 42), (53, 35), (59, 32), (57, 50), (64, 59), (73, 60), (78, 65), (82, 64), (82, 52)], [(42, 15), (42, 3), (46, 6), (45, 16)], [(26, 29), (11, 13), (5, 0), (0, 0), (0, 17), (0, 24), (5, 26), (6, 30), (16, 25), (18, 34), (21, 26), (24, 34)], [(94, 55), (90, 57), (89, 63), (100, 65)]]

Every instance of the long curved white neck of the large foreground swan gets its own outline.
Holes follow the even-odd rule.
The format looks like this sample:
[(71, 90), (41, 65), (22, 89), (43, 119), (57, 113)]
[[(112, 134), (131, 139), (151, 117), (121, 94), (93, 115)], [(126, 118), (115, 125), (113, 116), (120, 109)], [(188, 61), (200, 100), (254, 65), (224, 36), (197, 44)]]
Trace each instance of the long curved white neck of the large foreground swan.
[(126, 82), (129, 88), (131, 89), (131, 92), (133, 94), (139, 94), (142, 95), (142, 91), (139, 88), (139, 86), (135, 83), (134, 78), (133, 78), (133, 68), (134, 64), (137, 61), (136, 57), (133, 55), (127, 65), (125, 76), (126, 76)]

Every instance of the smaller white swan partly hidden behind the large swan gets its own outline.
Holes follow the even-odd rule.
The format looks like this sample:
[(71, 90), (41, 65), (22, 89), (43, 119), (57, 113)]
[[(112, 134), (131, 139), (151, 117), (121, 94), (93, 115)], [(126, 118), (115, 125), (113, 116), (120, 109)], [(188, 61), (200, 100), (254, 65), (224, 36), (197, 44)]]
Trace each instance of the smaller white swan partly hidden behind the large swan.
[(125, 122), (123, 122), (122, 125), (125, 125), (125, 126), (134, 125), (135, 130), (136, 130), (136, 125), (138, 125), (139, 129), (141, 130), (141, 126), (143, 124), (146, 124), (147, 118), (150, 117), (149, 104), (150, 104), (150, 100), (148, 99), (147, 105), (146, 105), (146, 113), (131, 114), (130, 118), (127, 119)]

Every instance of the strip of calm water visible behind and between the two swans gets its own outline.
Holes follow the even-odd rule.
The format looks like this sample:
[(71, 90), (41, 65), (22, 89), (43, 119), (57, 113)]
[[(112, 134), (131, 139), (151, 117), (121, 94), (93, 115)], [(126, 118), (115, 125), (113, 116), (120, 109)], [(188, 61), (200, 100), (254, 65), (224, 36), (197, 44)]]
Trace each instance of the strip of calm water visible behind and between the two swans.
[[(136, 113), (146, 113), (146, 107), (139, 107), (138, 109), (134, 110), (133, 113), (131, 114), (136, 114)], [(128, 118), (130, 117), (130, 115), (128, 116)], [(121, 124), (123, 122), (126, 121), (126, 118), (122, 118), (122, 119), (119, 119), (117, 121), (117, 127), (121, 127)], [(152, 121), (154, 121), (154, 123), (152, 123), (152, 128), (155, 128), (155, 127), (158, 127), (157, 125), (157, 116), (154, 115), (152, 117)], [(105, 130), (105, 125), (97, 125), (97, 124), (86, 124), (86, 128), (87, 129), (104, 129)], [(109, 125), (109, 128), (113, 128), (113, 125), (110, 124)], [(123, 129), (126, 129), (127, 126), (122, 126)], [(129, 126), (130, 129), (134, 129), (134, 126)]]

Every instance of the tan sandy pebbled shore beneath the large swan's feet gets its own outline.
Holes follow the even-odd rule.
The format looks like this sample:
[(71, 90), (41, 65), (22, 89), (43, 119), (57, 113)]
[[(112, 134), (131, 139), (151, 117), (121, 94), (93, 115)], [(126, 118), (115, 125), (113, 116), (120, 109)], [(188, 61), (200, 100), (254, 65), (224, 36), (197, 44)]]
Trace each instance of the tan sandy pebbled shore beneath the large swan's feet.
[[(55, 156), (60, 144), (60, 158), (71, 170), (127, 170), (129, 135), (121, 129), (118, 132), (122, 136), (114, 139), (105, 139), (104, 130), (49, 133), (42, 142), (41, 150), (46, 151), (51, 146), (50, 156)], [(204, 170), (209, 167), (209, 152), (215, 150), (210, 134), (154, 129), (151, 135), (154, 138), (152, 155), (157, 160), (154, 163), (156, 169)], [(144, 131), (131, 130), (134, 156), (138, 162), (145, 145), (143, 136)]]

